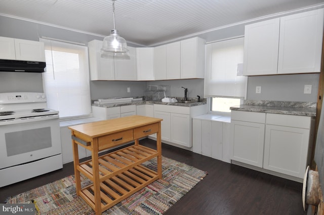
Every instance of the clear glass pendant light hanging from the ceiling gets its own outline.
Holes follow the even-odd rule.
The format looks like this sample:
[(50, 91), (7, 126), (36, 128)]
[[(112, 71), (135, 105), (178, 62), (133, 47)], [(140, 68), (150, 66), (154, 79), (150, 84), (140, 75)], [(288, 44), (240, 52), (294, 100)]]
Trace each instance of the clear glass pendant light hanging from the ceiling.
[(113, 29), (109, 36), (106, 36), (102, 41), (101, 57), (103, 58), (123, 58), (128, 57), (128, 49), (126, 40), (118, 35), (115, 29), (115, 1), (112, 1)]

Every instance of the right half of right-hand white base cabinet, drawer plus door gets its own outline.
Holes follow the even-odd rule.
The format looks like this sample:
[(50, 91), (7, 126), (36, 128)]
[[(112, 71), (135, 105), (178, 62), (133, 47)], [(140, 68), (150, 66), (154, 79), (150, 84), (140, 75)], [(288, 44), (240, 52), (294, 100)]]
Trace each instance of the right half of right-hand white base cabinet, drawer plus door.
[(311, 118), (267, 114), (263, 168), (303, 178), (306, 169)]

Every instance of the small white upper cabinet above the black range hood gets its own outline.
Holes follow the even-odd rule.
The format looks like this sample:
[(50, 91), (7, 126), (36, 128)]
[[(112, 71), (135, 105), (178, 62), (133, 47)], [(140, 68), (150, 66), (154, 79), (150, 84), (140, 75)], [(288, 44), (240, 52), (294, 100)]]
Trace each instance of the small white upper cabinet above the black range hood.
[(0, 37), (0, 59), (45, 62), (44, 42)]

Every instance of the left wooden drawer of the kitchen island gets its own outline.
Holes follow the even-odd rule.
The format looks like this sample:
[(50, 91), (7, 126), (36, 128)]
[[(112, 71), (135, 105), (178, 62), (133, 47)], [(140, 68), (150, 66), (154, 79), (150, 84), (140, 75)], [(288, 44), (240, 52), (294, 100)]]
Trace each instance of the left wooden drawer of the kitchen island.
[(99, 151), (109, 147), (118, 146), (120, 144), (130, 142), (132, 140), (133, 130), (119, 132), (112, 135), (106, 135), (98, 138)]

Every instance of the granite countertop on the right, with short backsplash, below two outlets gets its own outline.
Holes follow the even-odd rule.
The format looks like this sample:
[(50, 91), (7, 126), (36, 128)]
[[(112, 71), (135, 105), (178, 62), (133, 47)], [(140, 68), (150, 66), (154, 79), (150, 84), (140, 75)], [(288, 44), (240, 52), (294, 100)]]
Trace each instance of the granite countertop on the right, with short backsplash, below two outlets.
[(262, 113), (316, 116), (316, 102), (245, 100), (244, 104), (230, 107), (230, 109)]

